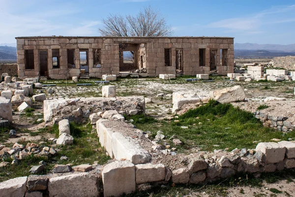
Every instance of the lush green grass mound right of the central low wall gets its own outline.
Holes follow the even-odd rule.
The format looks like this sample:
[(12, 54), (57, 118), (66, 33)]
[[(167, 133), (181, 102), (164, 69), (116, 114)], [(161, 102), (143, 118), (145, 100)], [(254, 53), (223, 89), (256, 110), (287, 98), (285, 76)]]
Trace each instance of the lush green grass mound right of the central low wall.
[[(295, 131), (283, 135), (280, 131), (265, 128), (252, 113), (231, 104), (221, 104), (213, 100), (206, 105), (189, 110), (172, 121), (157, 121), (143, 115), (130, 118), (135, 121), (133, 124), (138, 129), (151, 131), (153, 136), (159, 130), (163, 131), (168, 138), (176, 134), (184, 142), (182, 147), (178, 147), (180, 151), (192, 147), (199, 147), (206, 151), (255, 148), (256, 144), (253, 144), (253, 141), (267, 142), (272, 138), (288, 140), (295, 137)], [(199, 125), (199, 123), (202, 124)], [(188, 126), (188, 129), (181, 129), (181, 126)]]

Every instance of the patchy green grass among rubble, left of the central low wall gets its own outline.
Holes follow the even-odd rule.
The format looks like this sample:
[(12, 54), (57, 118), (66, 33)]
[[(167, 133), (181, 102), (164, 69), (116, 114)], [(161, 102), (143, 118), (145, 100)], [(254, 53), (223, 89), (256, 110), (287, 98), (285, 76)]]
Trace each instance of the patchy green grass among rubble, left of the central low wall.
[[(45, 161), (47, 163), (46, 170), (41, 174), (48, 173), (55, 164), (93, 164), (94, 161), (98, 161), (98, 164), (105, 164), (109, 159), (109, 156), (105, 154), (104, 149), (99, 144), (99, 138), (96, 132), (92, 132), (92, 126), (79, 125), (70, 123), (71, 135), (74, 137), (73, 145), (56, 146), (55, 149), (59, 149), (59, 155), (56, 157), (34, 157), (29, 156), (25, 160), (21, 160), (17, 165), (8, 165), (7, 167), (0, 168), (0, 182), (19, 177), (29, 176), (30, 165), (38, 165), (38, 162)], [(0, 130), (1, 131), (1, 130)], [(28, 131), (27, 131), (28, 132)], [(1, 132), (0, 132), (1, 133)], [(52, 133), (56, 137), (59, 136), (59, 127), (54, 125), (52, 127), (46, 127), (39, 129), (36, 132), (29, 132), (31, 136), (35, 136), (41, 133)], [(2, 137), (1, 137), (2, 138)], [(45, 139), (41, 139), (43, 141)], [(38, 143), (39, 141), (30, 141)], [(19, 141), (18, 143), (26, 145), (28, 141)], [(51, 146), (52, 142), (46, 142), (47, 146)], [(60, 160), (61, 156), (67, 156), (68, 160)], [(6, 158), (4, 161), (12, 162), (11, 158)]]

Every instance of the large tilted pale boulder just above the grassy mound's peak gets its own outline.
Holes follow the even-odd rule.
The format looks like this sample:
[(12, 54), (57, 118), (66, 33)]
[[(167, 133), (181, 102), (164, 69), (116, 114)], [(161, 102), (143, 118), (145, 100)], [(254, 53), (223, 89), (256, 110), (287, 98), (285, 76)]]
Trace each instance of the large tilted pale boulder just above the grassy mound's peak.
[(220, 103), (243, 101), (245, 99), (245, 92), (241, 86), (234, 86), (231, 88), (214, 91), (213, 99)]

